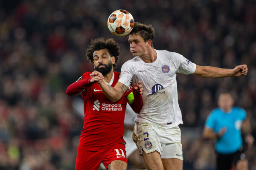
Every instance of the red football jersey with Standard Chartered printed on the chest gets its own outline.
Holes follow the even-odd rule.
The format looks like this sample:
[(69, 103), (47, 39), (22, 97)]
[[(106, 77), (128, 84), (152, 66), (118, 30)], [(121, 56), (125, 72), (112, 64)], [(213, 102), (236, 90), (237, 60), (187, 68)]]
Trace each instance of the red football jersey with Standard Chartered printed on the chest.
[[(115, 71), (113, 73), (113, 78), (109, 83), (112, 87), (118, 82), (120, 74)], [(79, 147), (93, 151), (103, 146), (108, 147), (113, 142), (125, 144), (122, 137), (125, 109), (127, 96), (131, 91), (126, 92), (120, 100), (113, 103), (105, 96), (98, 83), (90, 84), (89, 80), (90, 72), (84, 73), (77, 82), (80, 88), (72, 91), (76, 94), (82, 91), (84, 100), (84, 129), (80, 136)], [(67, 94), (69, 94), (68, 90), (69, 88)]]

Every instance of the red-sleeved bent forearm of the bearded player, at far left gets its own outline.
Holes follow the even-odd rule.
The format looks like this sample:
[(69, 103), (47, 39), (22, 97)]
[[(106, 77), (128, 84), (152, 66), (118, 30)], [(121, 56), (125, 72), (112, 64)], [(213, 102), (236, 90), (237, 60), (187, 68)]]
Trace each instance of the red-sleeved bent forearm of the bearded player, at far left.
[(80, 94), (84, 89), (90, 87), (93, 83), (90, 83), (91, 78), (81, 79), (68, 86), (66, 94), (69, 96)]

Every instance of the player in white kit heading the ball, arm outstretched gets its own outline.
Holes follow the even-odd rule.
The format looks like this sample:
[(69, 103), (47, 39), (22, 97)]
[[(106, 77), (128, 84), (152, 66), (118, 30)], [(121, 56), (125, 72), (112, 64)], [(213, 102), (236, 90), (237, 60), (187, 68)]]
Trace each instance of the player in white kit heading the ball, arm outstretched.
[[(234, 69), (199, 66), (180, 54), (153, 48), (154, 28), (135, 23), (128, 35), (134, 58), (122, 65), (119, 82), (111, 87), (99, 81), (112, 102), (119, 100), (131, 85), (139, 80), (144, 88), (143, 108), (135, 119), (134, 142), (143, 154), (148, 170), (182, 170), (180, 128), (181, 111), (178, 105), (176, 74), (194, 74), (205, 78), (242, 76), (247, 65)], [(91, 76), (102, 75), (94, 71)], [(140, 92), (142, 93), (142, 91)]]

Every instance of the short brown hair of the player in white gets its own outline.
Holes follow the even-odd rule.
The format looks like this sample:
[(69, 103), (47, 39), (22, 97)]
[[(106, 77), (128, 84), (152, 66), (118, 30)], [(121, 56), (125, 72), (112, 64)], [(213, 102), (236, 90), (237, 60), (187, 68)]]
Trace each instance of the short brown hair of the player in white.
[(146, 25), (139, 22), (135, 22), (134, 28), (126, 37), (129, 37), (129, 35), (132, 35), (132, 34), (139, 34), (140, 37), (143, 38), (144, 42), (146, 42), (147, 40), (151, 40), (152, 41), (151, 46), (153, 47), (155, 34), (154, 34), (154, 28), (152, 27), (151, 24)]

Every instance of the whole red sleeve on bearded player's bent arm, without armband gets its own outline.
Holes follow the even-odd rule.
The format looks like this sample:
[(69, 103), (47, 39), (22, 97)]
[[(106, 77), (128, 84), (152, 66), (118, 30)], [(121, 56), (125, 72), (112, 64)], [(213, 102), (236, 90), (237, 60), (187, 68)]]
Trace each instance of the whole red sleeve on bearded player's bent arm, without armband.
[(73, 82), (68, 86), (66, 94), (72, 96), (82, 93), (86, 88), (94, 84), (90, 82), (91, 78), (90, 72), (84, 73), (78, 80), (76, 80), (76, 82)]

